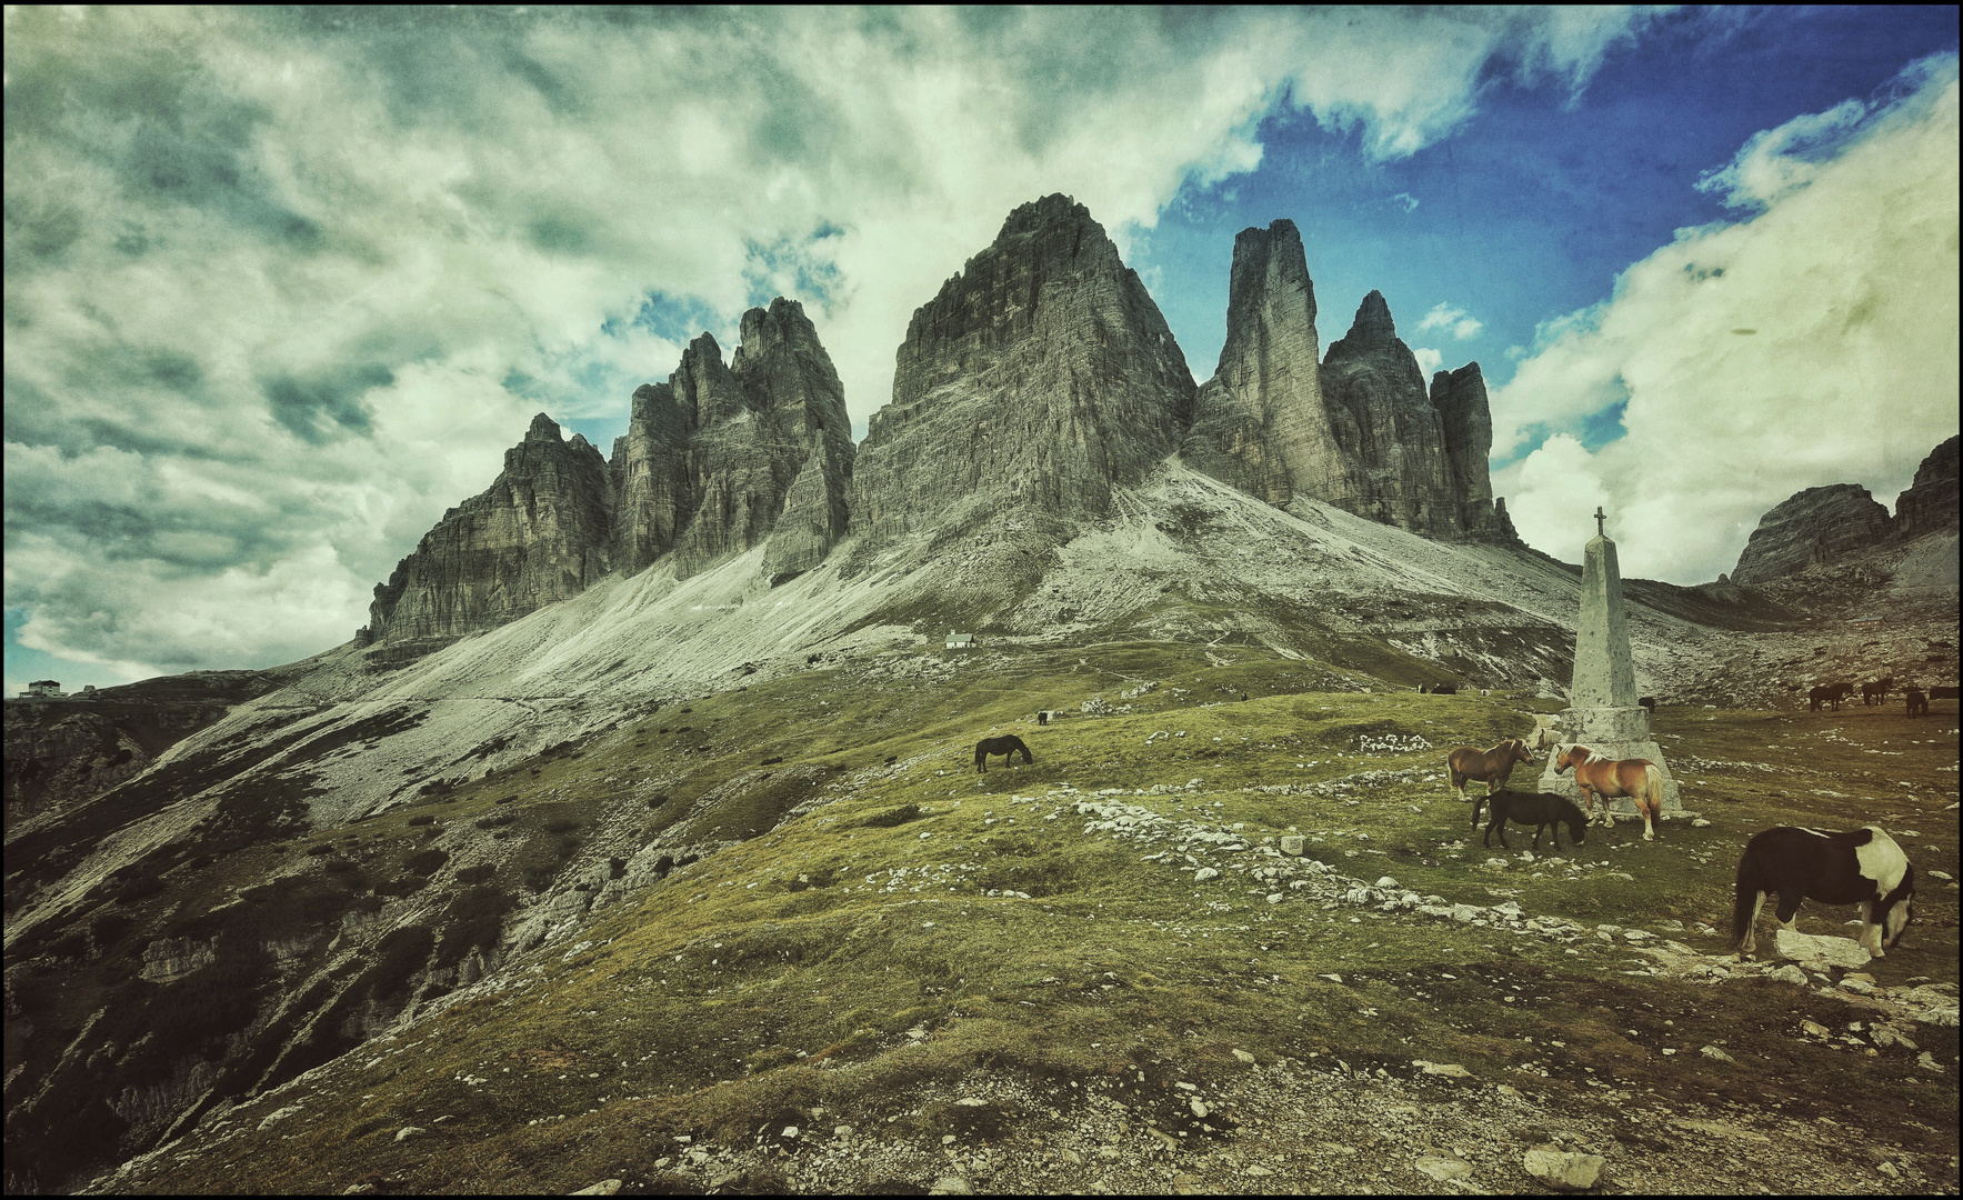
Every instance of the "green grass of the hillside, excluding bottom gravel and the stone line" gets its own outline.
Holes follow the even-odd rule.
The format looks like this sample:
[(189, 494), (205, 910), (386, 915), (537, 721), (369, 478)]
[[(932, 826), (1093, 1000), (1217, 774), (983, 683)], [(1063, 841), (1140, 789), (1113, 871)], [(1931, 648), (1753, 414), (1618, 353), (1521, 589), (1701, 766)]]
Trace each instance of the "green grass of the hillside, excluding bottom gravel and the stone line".
[[(510, 972), (418, 1023), (412, 1055), (347, 1064), (318, 1119), (241, 1133), (228, 1153), (251, 1165), (247, 1176), (192, 1159), (151, 1186), (338, 1190), (365, 1173), (455, 1190), (571, 1188), (603, 1171), (654, 1178), (677, 1133), (748, 1145), (764, 1121), (809, 1123), (803, 1114), (824, 1108), (826, 1123), (932, 1139), (982, 1118), (919, 1104), (923, 1082), (1015, 1072), (1062, 1112), (1082, 1094), (1074, 1080), (1225, 1078), (1239, 1070), (1235, 1049), (1400, 1078), (1417, 1059), (1462, 1063), (1545, 1104), (1614, 1078), (1657, 1104), (1722, 1094), (1800, 1119), (1886, 1121), (1890, 1137), (1904, 1135), (1900, 1114), (1863, 1098), (1906, 1096), (1934, 1131), (1928, 1153), (1953, 1153), (1953, 1094), (1904, 1090), (1912, 1057), (1792, 1035), (1802, 1015), (1863, 1019), (1841, 1002), (1625, 974), (1639, 958), (1592, 937), (1568, 947), (1354, 905), (1270, 905), (1243, 876), (1195, 886), (1176, 862), (1088, 835), (1072, 811), (1078, 795), (1115, 790), (1111, 799), (1166, 817), (1239, 827), (1252, 845), (1298, 831), (1311, 858), (1364, 882), (1388, 874), (1447, 901), (1515, 900), (1533, 915), (1718, 951), (1722, 937), (1696, 923), (1722, 923), (1737, 852), (1771, 823), (1916, 829), (1898, 837), (1918, 866), (1955, 874), (1955, 821), (1943, 817), (1953, 736), (1900, 717), (1663, 709), (1657, 731), (1684, 803), (1712, 825), (1667, 821), (1657, 843), (1629, 823), (1598, 827), (1578, 848), (1525, 858), (1517, 829), (1512, 852), (1478, 845), (1443, 756), (1521, 735), (1549, 705), (1415, 695), (1358, 672), (1248, 646), (989, 648), (946, 678), (815, 668), (593, 738), (579, 760), (536, 764), (557, 799), (508, 809), (534, 831), (512, 843), (512, 876), (544, 886), (577, 860), (577, 846), (542, 833), (556, 819), (589, 823), (599, 839), (610, 813), (632, 809), (656, 833), (689, 821), (703, 837), (720, 827), (716, 837), (748, 841), (603, 909), (577, 935), (587, 949), (557, 943), (536, 958), (544, 970)], [(1141, 683), (1156, 687), (1123, 697)], [(1093, 697), (1133, 711), (1029, 719)], [(974, 740), (989, 733), (1017, 733), (1035, 762), (976, 774)], [(1429, 748), (1378, 754), (1360, 736), (1423, 736)], [(766, 756), (783, 762), (760, 768)], [(483, 815), (528, 772), (459, 788), (446, 819)], [(1519, 768), (1515, 786), (1533, 774)], [(650, 817), (646, 799), (610, 782), (620, 778), (658, 780), (671, 799)], [(497, 907), (493, 878), (469, 888), (450, 901), (453, 929)], [(1808, 905), (1800, 927), (1845, 933), (1851, 915)], [(1953, 982), (1953, 929), (1955, 892), (1932, 884), (1912, 949), (1871, 972), (1883, 984)], [(442, 937), (440, 956), (481, 945)], [(1953, 1059), (1955, 1031), (1918, 1037)], [(1749, 1066), (1696, 1055), (1706, 1043)], [(442, 1155), (387, 1141), (428, 1114), (453, 1118)], [(1042, 1114), (1011, 1118), (964, 1135), (1013, 1137)]]

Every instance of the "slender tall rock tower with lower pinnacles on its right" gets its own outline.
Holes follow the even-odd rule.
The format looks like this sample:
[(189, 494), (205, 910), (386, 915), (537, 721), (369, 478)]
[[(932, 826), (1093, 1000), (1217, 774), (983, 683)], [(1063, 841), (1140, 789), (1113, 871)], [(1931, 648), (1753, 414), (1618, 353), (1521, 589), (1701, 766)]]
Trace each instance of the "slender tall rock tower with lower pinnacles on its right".
[(1478, 363), (1439, 371), (1427, 395), (1382, 293), (1321, 361), (1317, 346), (1301, 234), (1286, 220), (1243, 230), (1227, 344), (1182, 460), (1272, 505), (1307, 497), (1427, 536), (1517, 540), (1492, 503)]

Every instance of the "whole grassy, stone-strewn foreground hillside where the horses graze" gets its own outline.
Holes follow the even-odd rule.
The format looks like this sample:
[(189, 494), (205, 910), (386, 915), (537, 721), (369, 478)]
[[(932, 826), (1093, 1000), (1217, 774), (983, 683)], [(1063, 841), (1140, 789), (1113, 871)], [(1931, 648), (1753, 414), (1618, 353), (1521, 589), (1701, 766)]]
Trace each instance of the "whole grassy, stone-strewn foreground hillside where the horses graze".
[[(1519, 1147), (1559, 1135), (1623, 1186), (1953, 1190), (1953, 1025), (1645, 953), (1722, 949), (1737, 850), (1773, 823), (1877, 821), (1953, 876), (1953, 703), (1926, 721), (1665, 707), (1684, 805), (1710, 825), (1541, 854), (1515, 829), (1488, 850), (1443, 754), (1553, 707), (1160, 642), (817, 662), (671, 705), (232, 866), (292, 880), (247, 907), (292, 919), (292, 898), (332, 892), (314, 903), (344, 931), (391, 929), (342, 966), (306, 951), (373, 978), (314, 1017), (310, 1051), (269, 1051), (285, 1070), (257, 1064), (269, 1084), (308, 1074), (212, 1104), (106, 1182), (1451, 1190), (1413, 1169), (1431, 1155), (1517, 1190)], [(1035, 762), (978, 776), (989, 733)], [(1292, 833), (1301, 858), (1278, 852)], [(654, 854), (650, 886), (609, 892)], [(200, 896), (118, 909), (130, 945), (204, 933), (183, 925), (222, 907)], [(499, 962), (499, 931), (542, 929), (554, 903), (565, 925)], [(1508, 903), (1533, 921), (1494, 917)], [(1800, 929), (1851, 915), (1808, 905)], [(1926, 880), (1906, 949), (1865, 974), (1883, 994), (1953, 986), (1955, 919), (1955, 888)], [(469, 982), (473, 955), (491, 970)], [(218, 980), (145, 984), (192, 986)], [(359, 1004), (391, 988), (416, 992), (416, 1019), (359, 1043)], [(88, 1008), (35, 1004), (43, 1029)]]

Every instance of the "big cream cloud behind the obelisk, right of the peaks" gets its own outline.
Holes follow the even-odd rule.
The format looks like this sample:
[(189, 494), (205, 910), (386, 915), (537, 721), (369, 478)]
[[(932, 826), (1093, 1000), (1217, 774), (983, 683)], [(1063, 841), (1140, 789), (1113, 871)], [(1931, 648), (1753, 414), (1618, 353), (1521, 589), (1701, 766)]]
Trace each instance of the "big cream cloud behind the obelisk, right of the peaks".
[[(1494, 393), (1496, 456), (1566, 430), (1494, 477), (1521, 536), (1572, 558), (1600, 495), (1625, 572), (1714, 579), (1794, 491), (1888, 497), (1957, 430), (1957, 57), (1904, 81), (1859, 122), (1839, 106), (1753, 137), (1722, 177), (1763, 212), (1678, 232), (1543, 326)], [(1568, 436), (1623, 399), (1625, 436)]]

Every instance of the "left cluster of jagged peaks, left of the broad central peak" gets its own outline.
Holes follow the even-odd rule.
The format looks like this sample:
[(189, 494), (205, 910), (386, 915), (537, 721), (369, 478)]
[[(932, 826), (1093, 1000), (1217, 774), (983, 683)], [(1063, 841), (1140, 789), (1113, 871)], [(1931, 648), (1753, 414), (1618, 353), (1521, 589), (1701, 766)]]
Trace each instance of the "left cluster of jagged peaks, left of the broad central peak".
[(766, 568), (787, 579), (844, 536), (852, 460), (838, 371), (803, 306), (779, 297), (744, 314), (730, 363), (703, 334), (665, 383), (636, 389), (610, 462), (540, 412), (491, 489), (446, 513), (375, 589), (363, 636), (495, 628), (663, 558), (687, 577), (768, 542), (795, 493)]

